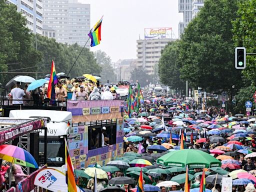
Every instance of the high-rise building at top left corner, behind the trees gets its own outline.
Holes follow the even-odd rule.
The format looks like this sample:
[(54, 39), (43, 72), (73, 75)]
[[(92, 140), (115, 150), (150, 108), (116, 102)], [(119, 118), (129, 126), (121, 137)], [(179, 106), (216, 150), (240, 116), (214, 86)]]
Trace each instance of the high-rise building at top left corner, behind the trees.
[(32, 33), (42, 34), (42, 0), (7, 0), (17, 5), (17, 11), (26, 17), (26, 26)]

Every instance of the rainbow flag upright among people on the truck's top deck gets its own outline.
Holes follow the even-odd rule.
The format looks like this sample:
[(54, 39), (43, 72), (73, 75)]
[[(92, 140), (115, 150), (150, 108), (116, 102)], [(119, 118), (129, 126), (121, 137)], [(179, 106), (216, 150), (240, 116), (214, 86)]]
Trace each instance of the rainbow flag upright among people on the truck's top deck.
[(55, 87), (54, 85), (57, 84), (58, 78), (55, 70), (55, 64), (54, 61), (51, 61), (51, 69), (50, 69), (50, 79), (48, 84), (48, 91), (47, 91), (47, 97), (50, 99), (50, 103), (55, 103)]

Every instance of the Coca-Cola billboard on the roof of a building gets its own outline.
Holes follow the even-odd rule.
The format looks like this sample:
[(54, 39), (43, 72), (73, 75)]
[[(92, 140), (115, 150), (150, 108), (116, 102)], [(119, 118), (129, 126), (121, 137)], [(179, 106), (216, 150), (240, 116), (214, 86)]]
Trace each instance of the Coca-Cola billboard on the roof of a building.
[(172, 38), (172, 28), (171, 27), (144, 28), (144, 38), (145, 39)]

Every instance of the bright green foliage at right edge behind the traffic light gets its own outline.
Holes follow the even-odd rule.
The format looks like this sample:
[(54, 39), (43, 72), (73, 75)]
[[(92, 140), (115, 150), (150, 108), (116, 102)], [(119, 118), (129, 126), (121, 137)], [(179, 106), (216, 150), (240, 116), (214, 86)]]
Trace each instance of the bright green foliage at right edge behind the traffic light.
[[(235, 46), (246, 47), (246, 52), (256, 52), (256, 0), (241, 0), (238, 3), (237, 18), (233, 24)], [(242, 74), (256, 85), (256, 57), (246, 55), (246, 68)]]

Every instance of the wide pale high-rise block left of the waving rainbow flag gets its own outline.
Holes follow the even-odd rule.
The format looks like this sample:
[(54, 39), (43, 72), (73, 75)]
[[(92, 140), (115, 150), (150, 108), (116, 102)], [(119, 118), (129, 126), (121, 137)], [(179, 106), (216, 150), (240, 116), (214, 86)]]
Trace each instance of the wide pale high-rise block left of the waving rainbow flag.
[(90, 30), (90, 5), (77, 0), (43, 0), (43, 24), (55, 30), (57, 42), (83, 46)]

